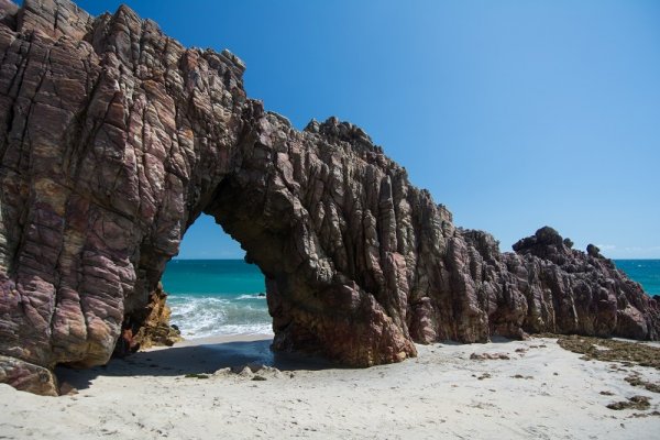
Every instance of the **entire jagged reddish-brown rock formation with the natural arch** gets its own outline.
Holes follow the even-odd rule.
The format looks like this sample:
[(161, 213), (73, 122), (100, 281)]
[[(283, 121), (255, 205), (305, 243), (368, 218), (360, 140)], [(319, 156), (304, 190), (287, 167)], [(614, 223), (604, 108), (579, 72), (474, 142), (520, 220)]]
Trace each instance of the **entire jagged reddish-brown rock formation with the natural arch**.
[(105, 364), (201, 212), (264, 273), (278, 350), (364, 366), (414, 342), (660, 334), (657, 301), (597, 251), (543, 228), (501, 253), (361, 129), (300, 132), (248, 99), (228, 51), (123, 6), (0, 11), (2, 382), (50, 393), (56, 364)]

